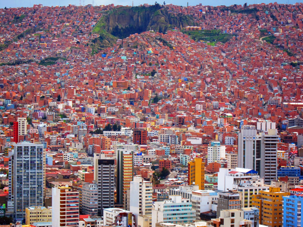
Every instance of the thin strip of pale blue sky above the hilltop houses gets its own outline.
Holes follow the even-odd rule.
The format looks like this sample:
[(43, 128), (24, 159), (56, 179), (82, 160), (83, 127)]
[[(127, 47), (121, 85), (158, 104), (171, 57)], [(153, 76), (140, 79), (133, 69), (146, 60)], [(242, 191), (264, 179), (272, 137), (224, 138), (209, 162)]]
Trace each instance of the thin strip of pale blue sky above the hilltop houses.
[[(164, 0), (158, 0), (158, 1), (164, 1)], [(179, 6), (186, 6), (188, 1), (189, 6), (196, 6), (198, 4), (202, 4), (205, 6), (231, 6), (234, 4), (237, 5), (244, 5), (244, 3), (247, 3), (247, 5), (252, 4), (261, 4), (261, 3), (274, 3), (277, 2), (279, 4), (295, 4), (295, 3), (302, 3), (303, 0), (283, 0), (283, 1), (270, 1), (270, 0), (247, 0), (247, 1), (241, 1), (241, 0), (213, 0), (213, 1), (206, 1), (206, 0), (166, 0), (166, 4), (174, 4)], [(131, 6), (132, 0), (111, 0), (111, 1), (105, 1), (105, 0), (0, 0), (0, 8), (16, 8), (16, 7), (32, 7), (34, 4), (42, 4), (43, 6), (68, 6), (69, 4), (79, 6), (81, 2), (81, 5), (88, 5), (93, 4), (94, 6), (98, 5), (109, 5), (109, 4), (115, 4), (115, 5), (123, 5), (123, 6)], [(94, 2), (94, 3), (93, 3)], [(139, 6), (141, 4), (147, 3), (150, 5), (155, 4), (155, 0), (133, 0), (134, 6)], [(158, 2), (159, 4), (163, 4), (163, 2)]]

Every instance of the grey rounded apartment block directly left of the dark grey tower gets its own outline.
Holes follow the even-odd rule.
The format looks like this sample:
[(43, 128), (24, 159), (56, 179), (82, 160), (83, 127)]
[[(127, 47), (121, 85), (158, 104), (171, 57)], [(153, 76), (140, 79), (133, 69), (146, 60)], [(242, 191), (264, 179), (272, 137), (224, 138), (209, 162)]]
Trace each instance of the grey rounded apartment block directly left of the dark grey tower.
[[(84, 183), (81, 194), (82, 214), (98, 215), (98, 185), (94, 183)], [(102, 194), (100, 196), (102, 196)]]

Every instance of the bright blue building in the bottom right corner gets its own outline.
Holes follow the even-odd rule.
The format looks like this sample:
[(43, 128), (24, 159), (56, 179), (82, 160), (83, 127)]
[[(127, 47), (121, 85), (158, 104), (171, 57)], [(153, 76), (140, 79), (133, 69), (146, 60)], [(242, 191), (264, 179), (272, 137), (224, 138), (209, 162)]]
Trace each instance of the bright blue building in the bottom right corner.
[(303, 195), (301, 194), (283, 196), (283, 227), (303, 225), (303, 218), (301, 218), (302, 203)]

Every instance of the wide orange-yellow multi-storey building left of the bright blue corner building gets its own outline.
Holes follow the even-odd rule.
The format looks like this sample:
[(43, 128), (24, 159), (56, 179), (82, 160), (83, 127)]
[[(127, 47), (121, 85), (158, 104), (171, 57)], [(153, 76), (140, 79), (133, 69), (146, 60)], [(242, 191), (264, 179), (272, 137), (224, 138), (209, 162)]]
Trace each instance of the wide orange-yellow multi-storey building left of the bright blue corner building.
[(260, 224), (282, 227), (282, 197), (289, 195), (288, 192), (281, 192), (277, 187), (270, 187), (269, 190), (259, 191), (259, 195), (252, 195), (251, 205), (260, 210)]

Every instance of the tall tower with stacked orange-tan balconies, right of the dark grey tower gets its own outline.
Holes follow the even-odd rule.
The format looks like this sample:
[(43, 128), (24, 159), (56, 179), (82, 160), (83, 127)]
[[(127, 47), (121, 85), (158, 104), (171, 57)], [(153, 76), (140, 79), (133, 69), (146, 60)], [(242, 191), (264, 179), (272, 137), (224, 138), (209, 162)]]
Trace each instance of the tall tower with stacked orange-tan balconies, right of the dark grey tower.
[(117, 151), (117, 203), (124, 207), (126, 191), (130, 188), (130, 182), (133, 181), (133, 156), (134, 152), (130, 150)]

